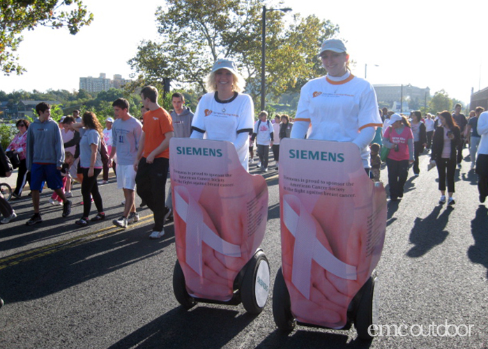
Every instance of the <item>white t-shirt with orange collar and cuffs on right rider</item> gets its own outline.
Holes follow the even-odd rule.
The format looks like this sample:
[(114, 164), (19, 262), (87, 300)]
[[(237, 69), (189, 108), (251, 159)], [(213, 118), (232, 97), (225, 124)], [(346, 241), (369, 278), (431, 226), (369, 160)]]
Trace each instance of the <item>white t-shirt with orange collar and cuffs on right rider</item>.
[[(363, 128), (383, 126), (372, 84), (348, 75), (337, 82), (318, 77), (302, 87), (295, 121), (310, 122), (309, 139), (352, 142)], [(369, 164), (369, 147), (361, 158)]]

